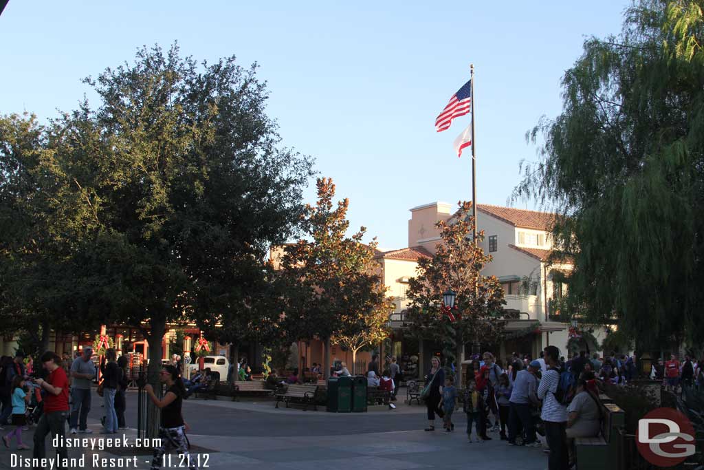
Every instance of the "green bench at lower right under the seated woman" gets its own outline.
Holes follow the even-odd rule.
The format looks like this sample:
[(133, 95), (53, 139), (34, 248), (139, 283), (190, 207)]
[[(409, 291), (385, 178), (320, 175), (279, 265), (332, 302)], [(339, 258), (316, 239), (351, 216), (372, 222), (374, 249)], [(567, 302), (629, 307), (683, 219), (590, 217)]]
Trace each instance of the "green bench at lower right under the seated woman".
[[(610, 398), (605, 396), (605, 400), (610, 401)], [(600, 406), (601, 430), (599, 435), (592, 438), (574, 438), (578, 470), (616, 470), (619, 468), (621, 437), (618, 430), (625, 424), (625, 414), (613, 403), (601, 403)]]

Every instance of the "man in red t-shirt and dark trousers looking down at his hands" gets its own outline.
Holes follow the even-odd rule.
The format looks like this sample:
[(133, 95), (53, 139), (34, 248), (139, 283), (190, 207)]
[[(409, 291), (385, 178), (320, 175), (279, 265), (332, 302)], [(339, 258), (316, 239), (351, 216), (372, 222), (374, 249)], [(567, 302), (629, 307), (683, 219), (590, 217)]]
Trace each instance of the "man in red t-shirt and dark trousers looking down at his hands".
[(37, 379), (37, 385), (46, 390), (44, 397), (44, 414), (34, 431), (34, 458), (46, 457), (44, 440), (51, 432), (51, 439), (58, 437), (56, 447), (58, 462), (56, 468), (65, 468), (68, 464), (68, 450), (65, 447), (66, 417), (68, 416), (68, 378), (61, 367), (61, 358), (54, 352), (42, 354), (42, 365), (49, 375), (46, 380)]

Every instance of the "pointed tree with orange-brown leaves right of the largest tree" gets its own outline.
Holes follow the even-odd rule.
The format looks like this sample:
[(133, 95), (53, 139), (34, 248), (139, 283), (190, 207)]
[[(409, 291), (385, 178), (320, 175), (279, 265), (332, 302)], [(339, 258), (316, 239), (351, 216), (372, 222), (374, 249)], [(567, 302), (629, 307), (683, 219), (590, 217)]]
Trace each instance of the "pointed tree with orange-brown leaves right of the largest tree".
[[(318, 179), (318, 202), (306, 206), (304, 225), (310, 240), (289, 245), (281, 274), (288, 280), (284, 330), (291, 339), (320, 338), (325, 343), (325, 374), (329, 372), (332, 338), (353, 344), (356, 351), (384, 335), (379, 319), (391, 313), (386, 287), (374, 261), (377, 242), (362, 243), (364, 227), (348, 237), (349, 205), (334, 205), (335, 185)], [(369, 328), (369, 330), (366, 330)]]

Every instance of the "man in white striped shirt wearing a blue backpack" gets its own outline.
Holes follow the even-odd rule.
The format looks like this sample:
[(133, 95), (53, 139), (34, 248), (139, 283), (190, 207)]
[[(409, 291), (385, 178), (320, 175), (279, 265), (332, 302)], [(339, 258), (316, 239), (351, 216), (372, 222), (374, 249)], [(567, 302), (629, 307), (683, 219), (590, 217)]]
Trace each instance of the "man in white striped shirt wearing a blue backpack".
[(545, 425), (545, 438), (550, 447), (548, 470), (567, 469), (567, 403), (574, 394), (574, 376), (561, 371), (560, 350), (548, 346), (543, 350), (548, 370), (538, 387), (538, 398), (543, 400), (541, 419)]

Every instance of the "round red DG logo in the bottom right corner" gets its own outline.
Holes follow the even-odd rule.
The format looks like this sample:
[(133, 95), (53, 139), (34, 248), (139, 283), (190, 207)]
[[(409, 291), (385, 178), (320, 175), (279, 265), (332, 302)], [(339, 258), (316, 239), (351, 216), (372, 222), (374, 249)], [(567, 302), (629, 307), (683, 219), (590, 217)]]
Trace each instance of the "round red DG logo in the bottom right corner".
[[(664, 422), (663, 422), (664, 421)], [(694, 427), (689, 418), (673, 408), (656, 408), (638, 422), (636, 447), (656, 466), (675, 466), (693, 454)]]

